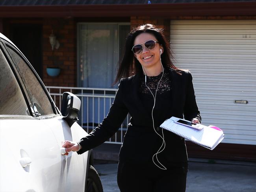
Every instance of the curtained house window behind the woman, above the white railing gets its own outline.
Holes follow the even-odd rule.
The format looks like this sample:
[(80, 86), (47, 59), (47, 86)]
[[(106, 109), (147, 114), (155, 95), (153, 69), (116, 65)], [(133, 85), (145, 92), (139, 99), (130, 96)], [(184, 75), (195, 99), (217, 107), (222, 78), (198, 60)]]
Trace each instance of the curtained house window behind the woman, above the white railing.
[(78, 86), (112, 86), (127, 34), (128, 24), (78, 24)]

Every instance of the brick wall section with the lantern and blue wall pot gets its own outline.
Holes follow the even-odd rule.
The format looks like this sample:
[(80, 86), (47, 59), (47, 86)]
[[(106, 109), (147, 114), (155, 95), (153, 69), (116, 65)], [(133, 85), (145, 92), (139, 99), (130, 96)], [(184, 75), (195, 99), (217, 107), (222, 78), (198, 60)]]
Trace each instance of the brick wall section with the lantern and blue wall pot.
[[(59, 41), (58, 49), (50, 45), (53, 33)], [(59, 67), (59, 76), (46, 73), (47, 67)], [(69, 18), (43, 19), (43, 82), (46, 86), (76, 87), (76, 23)]]

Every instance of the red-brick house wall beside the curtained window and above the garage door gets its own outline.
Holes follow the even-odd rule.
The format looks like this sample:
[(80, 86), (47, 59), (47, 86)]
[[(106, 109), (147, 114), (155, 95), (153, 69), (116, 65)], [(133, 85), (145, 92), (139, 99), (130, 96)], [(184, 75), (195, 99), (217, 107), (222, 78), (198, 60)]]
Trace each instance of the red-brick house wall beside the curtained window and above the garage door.
[[(81, 19), (81, 18), (80, 18)], [(102, 18), (107, 22), (106, 18)], [(140, 25), (151, 23), (164, 29), (164, 35), (170, 40), (170, 21), (173, 19), (256, 19), (256, 16), (172, 16), (168, 18), (151, 16), (131, 16), (131, 29)], [(111, 19), (112, 20), (112, 19)], [(90, 19), (91, 21), (91, 19)], [(47, 86), (76, 87), (77, 64), (76, 64), (76, 22), (75, 18), (44, 18), (43, 19), (43, 81)], [(99, 20), (96, 20), (99, 22)], [(0, 22), (1, 24), (1, 22)], [(0, 25), (1, 29), (1, 25)], [(52, 51), (49, 36), (56, 35), (60, 42), (59, 49)], [(47, 67), (57, 66), (61, 72), (57, 77), (48, 76)]]

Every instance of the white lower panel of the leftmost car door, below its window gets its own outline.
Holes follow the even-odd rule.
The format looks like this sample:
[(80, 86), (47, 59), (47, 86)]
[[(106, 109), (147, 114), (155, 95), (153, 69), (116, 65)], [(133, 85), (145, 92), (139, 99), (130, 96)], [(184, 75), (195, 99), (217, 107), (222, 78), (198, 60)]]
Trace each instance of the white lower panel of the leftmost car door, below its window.
[[(14, 134), (15, 133), (15, 134)], [(1, 185), (0, 191), (63, 191), (63, 173), (61, 154), (56, 138), (48, 126), (41, 120), (0, 120), (0, 151), (14, 161), (6, 161), (1, 154)], [(4, 139), (3, 139), (4, 138)], [(5, 143), (2, 144), (2, 140)], [(9, 150), (5, 148), (8, 146)], [(20, 165), (22, 157), (29, 157), (31, 164), (23, 168)], [(13, 183), (17, 175), (22, 185)], [(24, 186), (24, 190), (20, 188)]]

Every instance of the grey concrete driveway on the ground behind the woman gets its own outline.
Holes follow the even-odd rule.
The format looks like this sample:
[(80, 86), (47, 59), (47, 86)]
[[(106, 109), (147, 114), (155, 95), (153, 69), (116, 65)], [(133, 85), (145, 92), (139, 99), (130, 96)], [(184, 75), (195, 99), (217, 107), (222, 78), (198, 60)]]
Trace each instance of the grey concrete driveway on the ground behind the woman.
[[(120, 192), (116, 163), (95, 168), (104, 192)], [(186, 192), (256, 192), (256, 163), (190, 159)]]

